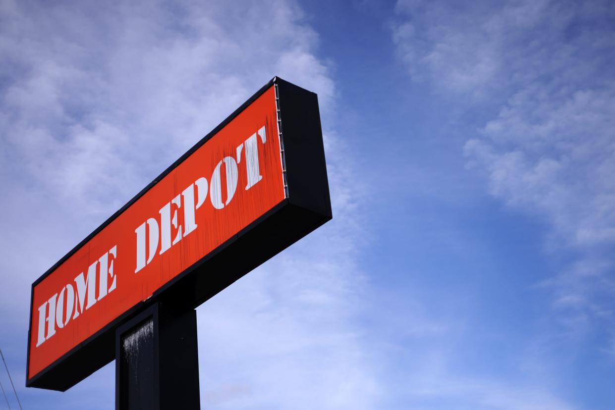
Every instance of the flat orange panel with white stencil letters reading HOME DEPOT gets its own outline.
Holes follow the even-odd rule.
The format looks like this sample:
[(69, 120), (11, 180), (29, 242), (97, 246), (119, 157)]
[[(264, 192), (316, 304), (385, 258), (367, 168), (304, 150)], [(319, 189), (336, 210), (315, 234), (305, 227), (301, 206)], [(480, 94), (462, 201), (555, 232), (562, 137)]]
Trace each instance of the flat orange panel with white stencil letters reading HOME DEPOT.
[(28, 379), (285, 200), (279, 131), (271, 85), (35, 283)]

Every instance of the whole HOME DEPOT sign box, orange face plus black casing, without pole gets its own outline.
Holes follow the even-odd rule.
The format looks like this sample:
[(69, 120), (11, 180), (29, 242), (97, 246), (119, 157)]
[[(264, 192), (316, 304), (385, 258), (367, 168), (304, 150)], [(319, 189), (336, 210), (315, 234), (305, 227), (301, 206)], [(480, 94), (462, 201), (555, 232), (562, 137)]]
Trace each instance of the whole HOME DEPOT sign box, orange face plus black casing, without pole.
[[(289, 95), (286, 111), (282, 90)], [(291, 100), (293, 93), (301, 98)], [(329, 203), (316, 226), (293, 232), (292, 224), (286, 224), (288, 239), (270, 241), (269, 247), (259, 243), (266, 240), (263, 235), (282, 232), (279, 215), (285, 215), (284, 221), (288, 215), (301, 218), (288, 211), (293, 187), (287, 185), (288, 149), (283, 149), (282, 138), (290, 141), (292, 136), (282, 134), (282, 119), (295, 117), (295, 125), (289, 126), (303, 134), (301, 107), (311, 105), (307, 97), (315, 102), (313, 93), (274, 78), (33, 284), (26, 385), (65, 390), (100, 367), (80, 361), (103, 354), (96, 350), (108, 357), (107, 350), (114, 349), (97, 344), (98, 339), (148, 301), (168, 296), (196, 306), (330, 219)], [(311, 140), (322, 151), (319, 122), (315, 133), (296, 139), (296, 157), (306, 143), (309, 157)], [(315, 161), (315, 176), (322, 175), (323, 154), (296, 161), (298, 199), (301, 185), (309, 182), (309, 160)], [(324, 175), (326, 185), (326, 170)], [(313, 209), (309, 203), (294, 205)], [(246, 263), (224, 262), (231, 256)], [(228, 270), (226, 276), (223, 270)], [(215, 283), (207, 283), (208, 278), (216, 278)], [(66, 377), (73, 368), (77, 376)]]

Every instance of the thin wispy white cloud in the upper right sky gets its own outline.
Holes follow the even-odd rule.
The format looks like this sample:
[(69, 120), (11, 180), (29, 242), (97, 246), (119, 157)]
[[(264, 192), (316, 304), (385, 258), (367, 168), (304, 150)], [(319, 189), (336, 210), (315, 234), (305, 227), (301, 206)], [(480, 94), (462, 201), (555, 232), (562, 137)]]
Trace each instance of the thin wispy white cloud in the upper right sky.
[(556, 300), (596, 299), (615, 269), (615, 8), (402, 0), (397, 11), (394, 39), (410, 74), (476, 119), (469, 167), (495, 197), (549, 223), (547, 249), (574, 251), (600, 277), (565, 268), (551, 282)]

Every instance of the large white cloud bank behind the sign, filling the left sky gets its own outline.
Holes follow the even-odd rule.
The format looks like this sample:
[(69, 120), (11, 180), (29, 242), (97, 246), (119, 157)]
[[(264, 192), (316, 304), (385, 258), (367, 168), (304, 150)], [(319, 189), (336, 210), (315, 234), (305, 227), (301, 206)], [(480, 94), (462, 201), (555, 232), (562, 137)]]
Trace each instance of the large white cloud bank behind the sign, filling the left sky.
[[(325, 124), (335, 109), (293, 2), (1, 4), (0, 223), (12, 236), (0, 309), (17, 312), (2, 319), (14, 352), (30, 283), (272, 76), (319, 93)], [(378, 382), (354, 325), (362, 194), (343, 141), (327, 129), (325, 143), (334, 221), (199, 309), (204, 406), (373, 408)], [(23, 385), (24, 353), (12, 360)], [(54, 403), (105, 406), (109, 377)]]

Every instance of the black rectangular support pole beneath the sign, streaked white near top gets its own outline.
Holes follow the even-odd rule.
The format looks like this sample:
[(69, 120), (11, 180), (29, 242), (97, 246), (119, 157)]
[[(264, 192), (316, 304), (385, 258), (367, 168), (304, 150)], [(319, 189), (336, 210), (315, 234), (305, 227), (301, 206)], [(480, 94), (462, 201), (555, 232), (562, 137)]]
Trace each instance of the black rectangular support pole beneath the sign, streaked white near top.
[(116, 410), (199, 408), (196, 311), (156, 302), (116, 331)]

